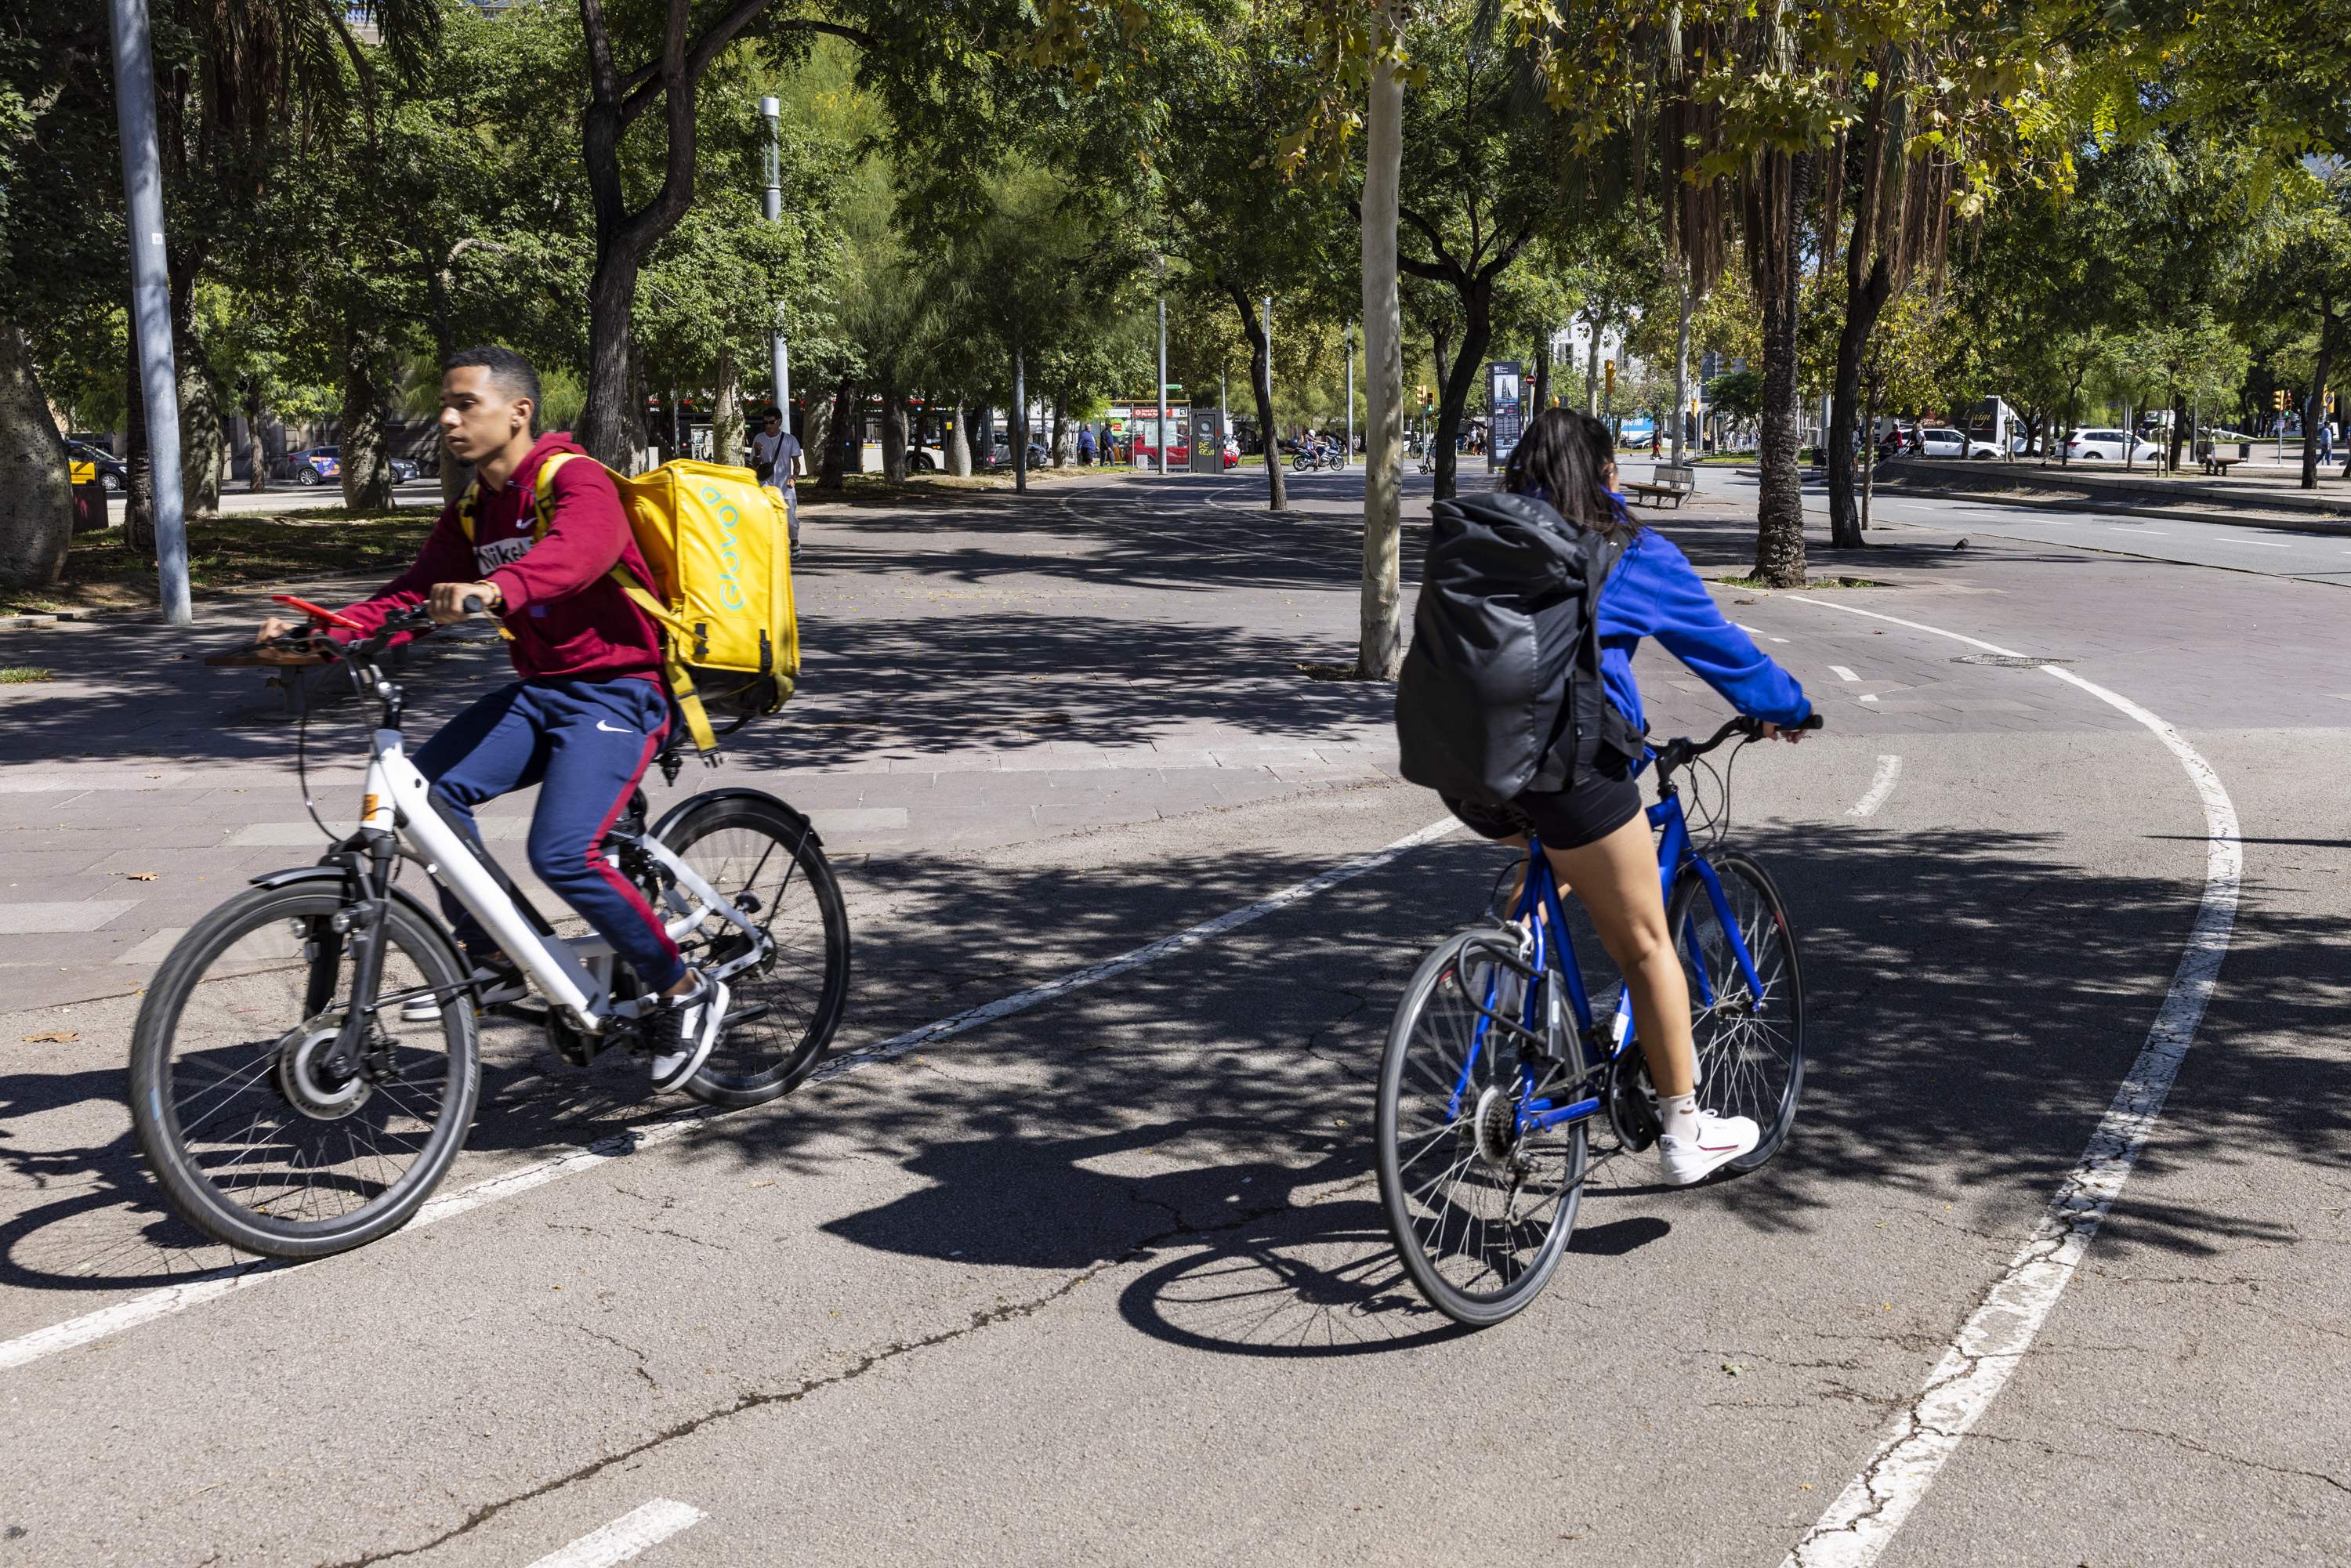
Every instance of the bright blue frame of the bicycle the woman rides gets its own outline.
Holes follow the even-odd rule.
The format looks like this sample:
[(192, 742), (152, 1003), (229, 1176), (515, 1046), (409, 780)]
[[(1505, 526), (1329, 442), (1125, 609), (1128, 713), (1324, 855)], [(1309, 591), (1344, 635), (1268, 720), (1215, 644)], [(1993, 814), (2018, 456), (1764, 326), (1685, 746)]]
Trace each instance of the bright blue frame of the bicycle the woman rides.
[[(1672, 788), (1672, 780), (1667, 780), (1660, 788), (1660, 795), (1662, 799), (1646, 813), (1648, 825), (1660, 830), (1657, 832), (1660, 896), (1672, 900), (1674, 884), (1681, 879), (1681, 875), (1686, 870), (1695, 872), (1700, 886), (1707, 889), (1707, 903), (1714, 907), (1714, 919), (1721, 924), (1723, 936), (1730, 943), (1730, 952), (1737, 959), (1740, 978), (1747, 983), (1751, 997), (1761, 997), (1763, 983), (1756, 978), (1754, 954), (1747, 952), (1747, 938), (1740, 931), (1737, 917), (1730, 912), (1730, 900), (1723, 896), (1723, 882), (1721, 877), (1716, 877), (1714, 867), (1707, 865), (1704, 856), (1700, 856), (1697, 849), (1690, 844), (1690, 823), (1681, 811), (1681, 795)], [(1582, 1088), (1592, 1079), (1606, 1074), (1617, 1063), (1617, 1058), (1622, 1058), (1636, 1044), (1634, 1020), (1632, 1020), (1632, 987), (1625, 985), (1617, 987), (1617, 1006), (1610, 1018), (1608, 1041), (1603, 1044), (1599, 1027), (1594, 1023), (1592, 997), (1585, 990), (1582, 969), (1575, 961), (1575, 947), (1568, 943), (1568, 914), (1566, 907), (1559, 903), (1559, 879), (1552, 875), (1552, 863), (1542, 853), (1542, 839), (1538, 839), (1533, 832), (1528, 832), (1526, 842), (1526, 886), (1519, 893), (1519, 903), (1512, 910), (1512, 917), (1521, 922), (1528, 931), (1528, 954), (1526, 954), (1528, 978), (1531, 980), (1549, 978), (1552, 973), (1556, 973), (1566, 983), (1573, 1027), (1578, 1037), (1585, 1041), (1587, 1056), (1594, 1063), (1570, 1081), (1570, 1088)], [(1695, 954), (1697, 952), (1695, 924), (1683, 922), (1683, 929), (1676, 933), (1676, 940), (1686, 943), (1688, 945), (1686, 950)], [(1704, 964), (1693, 964), (1693, 969), (1697, 969), (1700, 1006), (1714, 1006), (1714, 980), (1707, 976)], [(1469, 1091), (1472, 1077), (1476, 1074), (1476, 1060), (1486, 1051), (1493, 1023), (1500, 1018), (1495, 1013), (1500, 992), (1502, 992), (1502, 973), (1498, 966), (1495, 973), (1488, 976), (1486, 980), (1486, 999), (1483, 1006), (1479, 1006), (1479, 1020), (1469, 1032), (1469, 1051), (1462, 1053), (1462, 1070), (1453, 1084), (1453, 1095), (1448, 1100), (1448, 1114), (1453, 1117), (1460, 1117), (1460, 1103), (1462, 1095)], [(1556, 1009), (1554, 1018), (1549, 1020), (1535, 1016), (1540, 997), (1547, 994), (1549, 990), (1542, 985), (1528, 983), (1523, 987), (1523, 997), (1519, 999), (1516, 1027), (1533, 1039), (1542, 1039), (1547, 1048), (1556, 1053), (1559, 1046), (1563, 1044), (1559, 1039), (1559, 1030), (1566, 1027), (1566, 1020), (1556, 1018)], [(1603, 1105), (1603, 1098), (1594, 1093), (1585, 1093), (1570, 1100), (1568, 1105), (1556, 1105), (1554, 1100), (1535, 1098), (1535, 1070), (1526, 1063), (1519, 1065), (1519, 1084), (1521, 1093), (1516, 1107), (1516, 1128), (1521, 1138), (1526, 1133), (1561, 1126), (1566, 1121), (1585, 1121), (1599, 1114)]]

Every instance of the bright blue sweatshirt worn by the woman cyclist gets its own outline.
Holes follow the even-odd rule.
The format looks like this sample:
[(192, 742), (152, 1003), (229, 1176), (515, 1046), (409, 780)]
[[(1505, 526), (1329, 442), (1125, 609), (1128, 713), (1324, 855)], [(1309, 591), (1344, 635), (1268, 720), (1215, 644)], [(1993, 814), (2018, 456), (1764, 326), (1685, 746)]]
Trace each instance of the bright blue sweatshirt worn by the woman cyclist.
[[(1622, 498), (1617, 498), (1622, 517)], [(1766, 724), (1794, 726), (1813, 715), (1796, 677), (1770, 661), (1740, 628), (1723, 621), (1714, 595), (1674, 541), (1641, 529), (1601, 588), (1601, 682), (1617, 710), (1646, 726), (1632, 651), (1643, 637), (1690, 665), (1726, 703)], [(1646, 759), (1643, 759), (1646, 766)]]

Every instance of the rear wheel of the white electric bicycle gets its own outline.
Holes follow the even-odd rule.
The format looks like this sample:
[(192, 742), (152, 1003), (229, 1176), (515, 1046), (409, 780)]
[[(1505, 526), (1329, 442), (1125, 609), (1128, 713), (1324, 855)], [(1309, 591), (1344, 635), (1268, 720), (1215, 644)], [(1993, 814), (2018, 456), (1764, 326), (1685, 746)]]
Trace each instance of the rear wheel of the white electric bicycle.
[[(726, 1032), (686, 1081), (710, 1105), (762, 1105), (823, 1060), (849, 999), (849, 910), (809, 818), (771, 795), (712, 795), (663, 823), (661, 842), (773, 947), (726, 985)], [(750, 952), (741, 926), (705, 917), (679, 940), (686, 964)]]

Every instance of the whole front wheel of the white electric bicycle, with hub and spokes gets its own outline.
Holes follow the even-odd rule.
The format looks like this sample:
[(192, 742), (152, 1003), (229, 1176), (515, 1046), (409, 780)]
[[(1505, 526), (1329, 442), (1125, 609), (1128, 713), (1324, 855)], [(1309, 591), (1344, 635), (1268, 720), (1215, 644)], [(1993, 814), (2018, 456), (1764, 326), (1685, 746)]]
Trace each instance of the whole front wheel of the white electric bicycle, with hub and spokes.
[(449, 1171), (482, 1086), (449, 938), (386, 912), (383, 980), (355, 1077), (327, 1067), (350, 1016), (341, 889), (254, 889), (155, 971), (132, 1027), (132, 1128), (172, 1208), (266, 1258), (322, 1258), (402, 1225)]

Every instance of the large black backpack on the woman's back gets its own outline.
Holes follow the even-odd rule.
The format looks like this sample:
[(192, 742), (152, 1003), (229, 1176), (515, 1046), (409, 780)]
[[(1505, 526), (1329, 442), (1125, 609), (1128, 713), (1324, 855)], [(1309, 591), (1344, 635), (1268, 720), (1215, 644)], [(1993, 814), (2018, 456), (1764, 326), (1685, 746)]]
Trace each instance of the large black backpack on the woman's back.
[(1462, 802), (1563, 790), (1641, 731), (1601, 686), (1599, 597), (1625, 548), (1514, 494), (1439, 501), (1396, 679), (1401, 773)]

